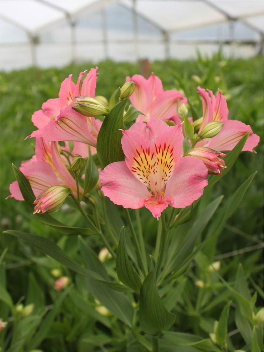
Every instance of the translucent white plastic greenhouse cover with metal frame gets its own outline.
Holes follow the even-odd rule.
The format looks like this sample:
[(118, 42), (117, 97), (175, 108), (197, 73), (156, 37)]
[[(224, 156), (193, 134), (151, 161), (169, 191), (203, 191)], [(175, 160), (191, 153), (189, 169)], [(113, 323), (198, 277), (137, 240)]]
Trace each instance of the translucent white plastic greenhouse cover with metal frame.
[[(1, 69), (111, 58), (255, 55), (262, 0), (0, 0)], [(226, 47), (224, 47), (226, 45)], [(234, 51), (234, 50), (233, 50)], [(233, 52), (232, 51), (232, 52)]]

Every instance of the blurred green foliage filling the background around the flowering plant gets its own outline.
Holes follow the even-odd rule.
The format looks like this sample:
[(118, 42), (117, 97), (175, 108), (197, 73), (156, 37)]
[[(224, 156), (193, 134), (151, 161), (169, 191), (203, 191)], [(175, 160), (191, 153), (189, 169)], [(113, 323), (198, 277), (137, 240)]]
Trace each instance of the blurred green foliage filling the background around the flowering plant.
[[(104, 61), (98, 66), (100, 75), (96, 93), (105, 95), (107, 99), (116, 88), (122, 86), (126, 76), (140, 74), (139, 64)], [(80, 71), (89, 70), (90, 67), (95, 65), (86, 63), (62, 69), (30, 68), (1, 73), (1, 233), (13, 229), (44, 236), (88, 269), (91, 269), (89, 265), (98, 267), (97, 258), (91, 249), (98, 253), (103, 247), (96, 235), (85, 237), (86, 250), (85, 246), (79, 247), (76, 236), (62, 236), (54, 228), (38, 222), (24, 202), (5, 198), (9, 195), (9, 184), (15, 180), (11, 163), (18, 167), (21, 161), (30, 159), (33, 155), (34, 141), (24, 140), (34, 129), (31, 115), (41, 108), (44, 101), (58, 96), (60, 84), (69, 73), (73, 74), (73, 81), (77, 82)], [(226, 348), (230, 351), (257, 350), (262, 339), (258, 327), (252, 333), (249, 319), (241, 314), (245, 309), (244, 301), (241, 297), (235, 300), (231, 289), (248, 301), (252, 300), (251, 297), (257, 291), (256, 307), (262, 307), (263, 57), (230, 60), (221, 54), (212, 59), (198, 56), (193, 61), (156, 61), (151, 64), (151, 69), (163, 81), (164, 89), (182, 89), (199, 117), (202, 115), (202, 104), (196, 87), (208, 88), (214, 93), (220, 89), (227, 98), (229, 118), (251, 125), (254, 133), (260, 136), (257, 153), (241, 153), (230, 172), (203, 196), (197, 207), (197, 213), (202, 212), (209, 202), (224, 195), (220, 207), (202, 232), (203, 238), (206, 238), (218, 220), (218, 214), (225, 211), (228, 197), (254, 171), (258, 171), (235, 213), (207, 241), (186, 274), (159, 290), (165, 308), (176, 316), (171, 332), (159, 339), (160, 348), (162, 351), (220, 351)], [(107, 201), (109, 219), (119, 234), (124, 219), (122, 211), (122, 218), (118, 217), (117, 209), (120, 210), (120, 207)], [(131, 216), (132, 221), (136, 221), (132, 214)], [(69, 226), (85, 226), (80, 215), (67, 205), (59, 209), (55, 217)], [(140, 217), (145, 243), (151, 252), (155, 247), (157, 221), (145, 208), (140, 209)], [(175, 229), (172, 235), (176, 244), (177, 241), (181, 244), (180, 234), (187, 228), (188, 223)], [(127, 227), (126, 231), (129, 232)], [(198, 245), (202, 236), (198, 237)], [(1, 334), (2, 350), (31, 351), (40, 348), (43, 351), (147, 351), (151, 348), (151, 341), (146, 339), (139, 343), (135, 340), (137, 332), (133, 335), (124, 324), (127, 318), (122, 318), (124, 312), (119, 312), (119, 307), (115, 307), (119, 319), (109, 312), (106, 315), (100, 314), (100, 304), (94, 300), (93, 295), (98, 294), (97, 291), (107, 291), (104, 283), (96, 286), (93, 279), (76, 274), (24, 241), (8, 234), (2, 234), (1, 237), (1, 318), (9, 319), (7, 328)], [(127, 243), (128, 249), (129, 246)], [(88, 253), (94, 258), (92, 264), (87, 263)], [(133, 253), (128, 254), (133, 256)], [(209, 267), (214, 260), (221, 262), (218, 272)], [(113, 259), (106, 262), (111, 277), (116, 277), (114, 266)], [(61, 293), (53, 288), (55, 279), (50, 271), (55, 268), (69, 276), (72, 282)], [(108, 275), (103, 269), (100, 270), (103, 276)], [(107, 276), (104, 277), (107, 279)], [(200, 287), (197, 285), (198, 280)], [(88, 291), (87, 284), (93, 289)], [(129, 295), (131, 294), (128, 297)], [(34, 303), (32, 314), (26, 318), (15, 313), (15, 305), (20, 302)], [(108, 302), (104, 303), (105, 306), (107, 304)], [(219, 321), (219, 325), (214, 331), (215, 320)], [(225, 340), (227, 324), (225, 346), (222, 341)], [(209, 334), (215, 334), (221, 341), (222, 345), (218, 344), (221, 349), (212, 344)], [(201, 342), (196, 335), (205, 340)], [(138, 341), (140, 336), (137, 337)]]

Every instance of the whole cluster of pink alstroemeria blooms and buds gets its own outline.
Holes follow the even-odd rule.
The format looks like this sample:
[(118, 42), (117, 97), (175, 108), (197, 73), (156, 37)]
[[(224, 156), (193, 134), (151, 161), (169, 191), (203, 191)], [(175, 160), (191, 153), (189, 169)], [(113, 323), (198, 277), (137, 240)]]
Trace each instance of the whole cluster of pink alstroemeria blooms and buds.
[[(85, 187), (78, 177), (84, 177), (80, 170), (86, 165), (88, 146), (96, 153), (103, 123), (96, 116), (108, 116), (111, 111), (104, 97), (95, 97), (97, 70), (91, 69), (85, 78), (86, 72), (81, 72), (76, 85), (69, 75), (58, 98), (43, 103), (32, 116), (38, 128), (29, 136), (36, 138), (35, 155), (22, 163), (20, 170), (36, 196), (34, 213), (56, 210), (69, 194), (78, 201), (84, 196)], [(99, 187), (105, 196), (124, 208), (146, 207), (159, 218), (168, 205), (184, 208), (199, 199), (207, 175), (220, 174), (226, 168), (222, 152), (231, 151), (248, 131), (243, 150), (253, 151), (259, 137), (250, 126), (227, 119), (224, 96), (219, 92), (215, 97), (200, 87), (198, 93), (203, 116), (193, 122), (186, 117), (187, 98), (181, 92), (164, 91), (154, 74), (147, 80), (140, 75), (126, 77), (119, 102), (130, 96), (140, 113), (128, 130), (122, 130), (125, 160), (108, 164), (100, 173)], [(10, 192), (10, 197), (23, 200), (17, 181), (10, 185)]]

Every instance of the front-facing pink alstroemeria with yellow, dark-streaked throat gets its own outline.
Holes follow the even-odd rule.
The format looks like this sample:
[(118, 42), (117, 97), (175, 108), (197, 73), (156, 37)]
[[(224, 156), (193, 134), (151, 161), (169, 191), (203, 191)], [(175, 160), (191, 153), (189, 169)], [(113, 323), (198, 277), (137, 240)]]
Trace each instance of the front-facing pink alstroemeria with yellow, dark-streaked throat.
[(181, 157), (181, 126), (137, 122), (123, 134), (125, 161), (107, 165), (100, 174), (102, 191), (112, 202), (132, 209), (145, 206), (159, 218), (168, 205), (184, 208), (202, 195), (207, 168), (195, 157)]

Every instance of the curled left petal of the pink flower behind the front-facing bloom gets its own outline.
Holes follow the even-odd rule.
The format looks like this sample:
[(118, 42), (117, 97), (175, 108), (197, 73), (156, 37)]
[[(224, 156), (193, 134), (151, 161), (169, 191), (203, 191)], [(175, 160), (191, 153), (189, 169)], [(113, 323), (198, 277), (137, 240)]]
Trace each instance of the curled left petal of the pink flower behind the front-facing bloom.
[[(126, 77), (126, 82), (129, 81), (133, 81), (135, 86), (135, 91), (130, 97), (131, 104), (143, 114), (147, 115), (153, 100), (151, 85), (141, 75), (134, 75), (131, 78)], [(144, 115), (139, 115), (139, 117), (145, 118), (143, 121), (146, 121)]]

